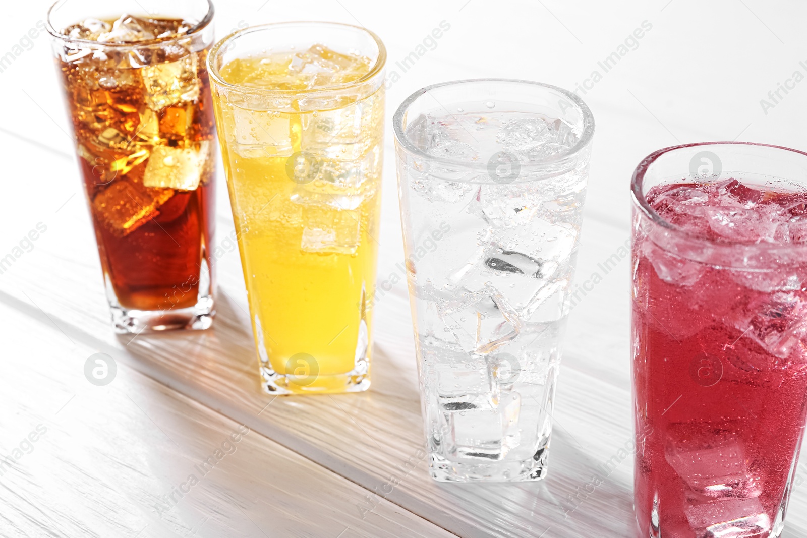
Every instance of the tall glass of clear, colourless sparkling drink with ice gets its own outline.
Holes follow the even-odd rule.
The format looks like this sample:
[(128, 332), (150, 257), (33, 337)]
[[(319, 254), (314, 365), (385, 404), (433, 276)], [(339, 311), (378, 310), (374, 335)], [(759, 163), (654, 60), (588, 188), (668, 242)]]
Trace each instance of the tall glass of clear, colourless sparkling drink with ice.
[(456, 81), (393, 128), (432, 477), (544, 478), (591, 111), (537, 82)]

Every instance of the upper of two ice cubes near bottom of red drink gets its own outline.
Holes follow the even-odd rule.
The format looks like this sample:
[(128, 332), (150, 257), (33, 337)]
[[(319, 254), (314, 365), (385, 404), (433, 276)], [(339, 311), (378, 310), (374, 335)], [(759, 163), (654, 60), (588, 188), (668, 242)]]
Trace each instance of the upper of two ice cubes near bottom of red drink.
[(675, 441), (667, 445), (667, 463), (697, 494), (711, 498), (755, 498), (761, 479), (749, 467), (737, 436), (713, 436), (709, 443)]

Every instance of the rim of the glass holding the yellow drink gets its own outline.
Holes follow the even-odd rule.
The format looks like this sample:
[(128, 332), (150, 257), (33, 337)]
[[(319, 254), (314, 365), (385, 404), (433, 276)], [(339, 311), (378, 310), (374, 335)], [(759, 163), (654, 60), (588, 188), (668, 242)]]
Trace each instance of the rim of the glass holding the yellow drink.
[[(369, 35), (372, 40), (374, 40), (375, 44), (378, 46), (378, 57), (375, 59), (374, 64), (370, 68), (365, 75), (359, 77), (355, 81), (350, 82), (343, 82), (341, 84), (329, 85), (324, 86), (322, 88), (309, 88), (304, 90), (270, 90), (267, 88), (252, 88), (245, 85), (240, 84), (232, 84), (228, 81), (225, 81), (224, 78), (221, 77), (219, 73), (219, 69), (215, 67), (215, 59), (220, 56), (220, 52), (224, 45), (232, 43), (233, 40), (236, 40), (241, 35), (251, 34), (256, 31), (266, 31), (271, 30), (273, 28), (278, 27), (293, 27), (293, 26), (307, 26), (307, 27), (341, 27), (341, 28), (349, 28), (355, 31), (362, 32), (366, 35)], [(347, 24), (347, 23), (333, 23), (330, 21), (288, 21), (283, 23), (266, 23), (266, 24), (257, 24), (256, 26), (251, 26), (249, 28), (242, 28), (240, 30), (232, 32), (232, 34), (227, 35), (226, 37), (219, 40), (218, 43), (213, 45), (211, 48), (210, 54), (207, 55), (207, 73), (210, 73), (211, 79), (215, 81), (216, 85), (220, 85), (224, 88), (228, 88), (230, 90), (236, 90), (244, 94), (254, 94), (254, 95), (277, 95), (281, 97), (288, 97), (292, 95), (316, 95), (316, 94), (329, 94), (334, 91), (339, 90), (346, 90), (349, 88), (354, 88), (358, 85), (362, 85), (367, 81), (372, 80), (374, 77), (377, 77), (378, 74), (383, 73), (384, 68), (387, 65), (387, 48), (384, 46), (383, 41), (381, 40), (378, 35), (372, 31), (367, 29), (366, 27), (356, 26), (355, 24)]]

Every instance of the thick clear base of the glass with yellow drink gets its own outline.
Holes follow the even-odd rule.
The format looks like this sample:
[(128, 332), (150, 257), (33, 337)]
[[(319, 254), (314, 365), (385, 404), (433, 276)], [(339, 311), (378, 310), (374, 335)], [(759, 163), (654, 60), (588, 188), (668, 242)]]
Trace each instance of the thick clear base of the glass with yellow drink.
[[(366, 365), (366, 361), (365, 365)], [(261, 364), (263, 390), (269, 394), (344, 394), (370, 388), (370, 373), (365, 365), (348, 373), (318, 374), (304, 379), (275, 372), (268, 363)], [(363, 370), (363, 372), (362, 372)]]

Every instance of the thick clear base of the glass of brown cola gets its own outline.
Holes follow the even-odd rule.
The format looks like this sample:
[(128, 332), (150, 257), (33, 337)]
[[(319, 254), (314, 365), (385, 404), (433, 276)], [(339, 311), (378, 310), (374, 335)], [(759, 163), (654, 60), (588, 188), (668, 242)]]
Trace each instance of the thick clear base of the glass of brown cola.
[(163, 331), (203, 331), (213, 323), (213, 298), (200, 299), (193, 307), (167, 311), (128, 310), (111, 305), (112, 325), (119, 334)]

